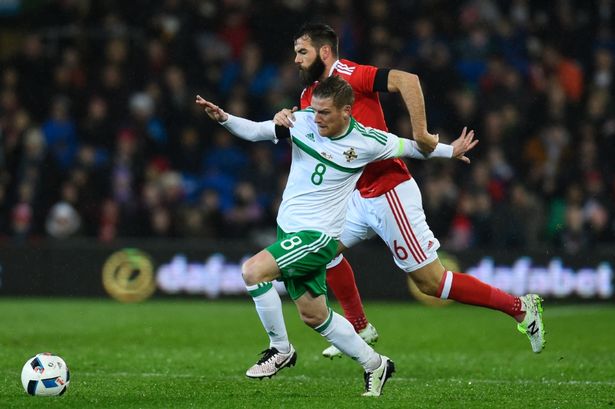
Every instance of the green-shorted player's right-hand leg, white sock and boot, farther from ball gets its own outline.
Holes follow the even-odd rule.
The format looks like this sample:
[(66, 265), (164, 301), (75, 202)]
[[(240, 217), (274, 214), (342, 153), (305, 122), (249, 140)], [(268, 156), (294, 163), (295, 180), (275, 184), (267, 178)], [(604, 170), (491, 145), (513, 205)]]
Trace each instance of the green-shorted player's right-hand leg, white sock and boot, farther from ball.
[(387, 379), (395, 371), (388, 357), (373, 350), (343, 316), (331, 310), (326, 295), (313, 295), (306, 291), (295, 300), (303, 322), (315, 329), (340, 351), (357, 361), (365, 370), (364, 396), (380, 396)]

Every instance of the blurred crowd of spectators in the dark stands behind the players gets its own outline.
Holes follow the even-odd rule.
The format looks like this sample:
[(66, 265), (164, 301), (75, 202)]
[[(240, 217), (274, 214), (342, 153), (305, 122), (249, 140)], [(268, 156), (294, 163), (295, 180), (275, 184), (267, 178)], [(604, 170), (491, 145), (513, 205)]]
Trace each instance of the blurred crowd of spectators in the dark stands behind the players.
[[(441, 141), (476, 130), (470, 166), (409, 162), (445, 248), (615, 243), (610, 0), (31, 3), (0, 7), (3, 241), (270, 234), (289, 146), (234, 138), (194, 100), (254, 120), (297, 105), (312, 20), (342, 58), (418, 74)], [(412, 135), (399, 95), (381, 100)]]

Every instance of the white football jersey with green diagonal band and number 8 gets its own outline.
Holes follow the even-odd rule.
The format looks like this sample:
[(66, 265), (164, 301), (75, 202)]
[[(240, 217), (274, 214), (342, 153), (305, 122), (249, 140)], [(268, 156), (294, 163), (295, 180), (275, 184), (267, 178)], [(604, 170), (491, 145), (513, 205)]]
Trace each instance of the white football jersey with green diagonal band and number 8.
[(290, 128), (292, 164), (277, 223), (287, 233), (317, 230), (338, 238), (363, 168), (369, 162), (399, 156), (400, 141), (354, 118), (344, 135), (323, 137), (314, 116), (309, 108), (295, 112), (296, 121)]

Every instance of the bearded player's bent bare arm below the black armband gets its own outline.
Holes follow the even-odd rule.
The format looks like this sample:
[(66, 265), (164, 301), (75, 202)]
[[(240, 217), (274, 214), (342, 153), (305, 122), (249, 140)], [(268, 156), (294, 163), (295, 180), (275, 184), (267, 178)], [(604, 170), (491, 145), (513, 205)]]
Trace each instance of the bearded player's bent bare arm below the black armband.
[(389, 92), (399, 92), (406, 108), (410, 113), (412, 122), (412, 136), (424, 152), (433, 151), (438, 144), (438, 134), (427, 131), (427, 117), (425, 115), (425, 98), (419, 77), (415, 74), (400, 70), (389, 71), (387, 81)]

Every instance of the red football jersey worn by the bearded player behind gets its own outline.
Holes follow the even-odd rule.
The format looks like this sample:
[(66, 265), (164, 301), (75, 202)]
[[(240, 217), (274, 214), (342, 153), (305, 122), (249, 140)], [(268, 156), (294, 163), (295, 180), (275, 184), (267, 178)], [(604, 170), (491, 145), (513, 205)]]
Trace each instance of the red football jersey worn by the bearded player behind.
[[(376, 71), (377, 67), (341, 59), (333, 64), (331, 75), (339, 75), (352, 86), (355, 99), (352, 116), (365, 126), (388, 132), (380, 98), (378, 93), (373, 91)], [(314, 82), (301, 93), (301, 109), (310, 106), (312, 92), (317, 84), (318, 81)], [(411, 178), (406, 164), (401, 159), (372, 162), (365, 167), (357, 182), (357, 189), (363, 197), (381, 196)]]

